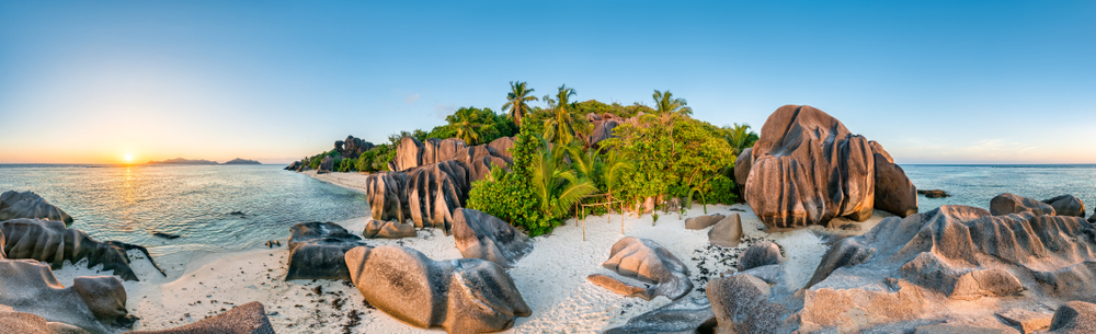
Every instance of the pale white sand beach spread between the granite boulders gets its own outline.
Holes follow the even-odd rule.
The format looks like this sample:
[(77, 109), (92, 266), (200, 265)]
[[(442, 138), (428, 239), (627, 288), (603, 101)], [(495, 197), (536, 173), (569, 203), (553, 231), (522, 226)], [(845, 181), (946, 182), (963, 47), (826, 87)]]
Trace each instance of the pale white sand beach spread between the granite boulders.
[[(333, 173), (312, 176), (347, 188), (362, 191), (365, 174)], [(825, 233), (863, 233), (891, 215), (876, 211), (858, 232), (830, 230), (821, 227), (783, 233), (766, 233), (763, 224), (746, 205), (709, 205), (708, 212), (740, 214), (743, 231), (756, 240), (773, 240), (787, 257), (784, 265), (788, 277), (800, 285), (810, 279), (826, 246), (819, 235)], [(696, 289), (692, 297), (701, 297), (709, 278), (731, 270), (735, 264), (729, 256), (745, 249), (723, 249), (708, 244), (707, 229), (687, 230), (684, 219), (704, 215), (700, 206), (689, 209), (678, 219), (664, 214), (652, 226), (652, 216), (591, 216), (582, 224), (568, 220), (551, 234), (534, 238), (535, 250), (516, 267), (510, 269), (518, 290), (533, 309), (529, 318), (518, 318), (506, 333), (595, 333), (624, 324), (628, 319), (670, 302), (664, 297), (644, 301), (626, 298), (590, 284), (590, 274), (610, 274), (601, 264), (608, 258), (609, 247), (623, 237), (654, 240), (681, 258), (692, 270)], [(340, 221), (361, 233), (368, 217)], [(837, 226), (840, 226), (838, 223)], [(288, 229), (286, 235), (288, 238)], [(423, 252), (434, 260), (461, 257), (453, 237), (439, 230), (420, 230), (418, 238), (402, 240), (366, 240), (369, 245), (395, 244)], [(231, 253), (175, 253), (157, 257), (168, 272), (160, 276), (151, 265), (133, 254), (134, 268), (141, 281), (125, 283), (128, 308), (141, 320), (135, 329), (156, 330), (187, 324), (231, 309), (233, 306), (260, 301), (266, 306), (271, 323), (278, 333), (423, 333), (384, 312), (367, 308), (362, 295), (349, 281), (285, 281), (286, 239), (282, 247), (265, 246)], [(82, 275), (104, 275), (82, 265), (56, 270), (62, 284)], [(706, 273), (706, 274), (705, 274)], [(355, 318), (359, 318), (356, 321)]]

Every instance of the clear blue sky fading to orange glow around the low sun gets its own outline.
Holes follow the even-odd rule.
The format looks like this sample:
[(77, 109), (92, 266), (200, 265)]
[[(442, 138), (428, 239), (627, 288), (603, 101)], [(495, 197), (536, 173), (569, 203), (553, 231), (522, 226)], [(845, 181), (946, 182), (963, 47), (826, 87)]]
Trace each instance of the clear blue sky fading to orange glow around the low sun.
[(1096, 163), (1096, 1), (0, 0), (0, 163), (286, 163), (461, 106), (808, 104), (899, 163)]

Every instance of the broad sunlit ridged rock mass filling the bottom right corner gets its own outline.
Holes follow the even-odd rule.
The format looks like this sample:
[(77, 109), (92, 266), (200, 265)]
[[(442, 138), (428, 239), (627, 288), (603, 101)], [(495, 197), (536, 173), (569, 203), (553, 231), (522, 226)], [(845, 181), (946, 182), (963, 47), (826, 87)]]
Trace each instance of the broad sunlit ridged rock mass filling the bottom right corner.
[[(720, 287), (732, 279), (735, 287)], [(981, 208), (943, 206), (886, 218), (864, 235), (842, 239), (806, 287), (788, 279), (772, 284), (751, 274), (709, 283), (719, 327), (740, 333), (754, 327), (921, 333), (929, 325), (1007, 330), (1002, 319), (1035, 327), (1044, 315), (1011, 310), (1096, 300), (1096, 228), (1080, 217), (1029, 210), (992, 216)], [(1063, 309), (1060, 314), (1071, 312)]]

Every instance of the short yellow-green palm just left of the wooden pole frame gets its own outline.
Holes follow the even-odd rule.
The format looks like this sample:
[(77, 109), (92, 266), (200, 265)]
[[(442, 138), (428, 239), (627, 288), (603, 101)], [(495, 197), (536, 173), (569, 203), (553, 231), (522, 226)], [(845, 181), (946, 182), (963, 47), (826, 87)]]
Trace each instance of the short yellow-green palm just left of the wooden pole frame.
[(540, 200), (541, 214), (548, 217), (566, 217), (583, 196), (597, 191), (590, 180), (575, 176), (574, 171), (562, 163), (563, 151), (563, 147), (551, 147), (541, 139), (540, 151), (533, 156), (529, 183)]

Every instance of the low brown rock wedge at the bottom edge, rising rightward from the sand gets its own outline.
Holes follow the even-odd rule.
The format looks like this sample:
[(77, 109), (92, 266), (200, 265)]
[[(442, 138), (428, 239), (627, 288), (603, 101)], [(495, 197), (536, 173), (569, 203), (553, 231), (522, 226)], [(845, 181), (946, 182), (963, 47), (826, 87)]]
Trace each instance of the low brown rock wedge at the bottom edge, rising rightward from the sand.
[(159, 331), (134, 331), (133, 334), (274, 334), (263, 304), (252, 301), (198, 322)]

